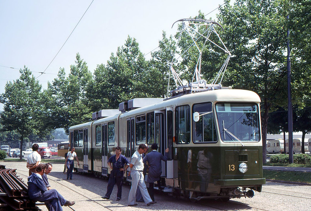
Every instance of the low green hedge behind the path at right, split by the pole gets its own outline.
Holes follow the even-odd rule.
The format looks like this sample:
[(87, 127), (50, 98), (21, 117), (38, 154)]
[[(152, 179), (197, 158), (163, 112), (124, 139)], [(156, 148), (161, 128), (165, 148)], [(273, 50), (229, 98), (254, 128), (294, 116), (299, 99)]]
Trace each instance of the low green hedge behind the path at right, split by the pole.
[[(287, 154), (272, 155), (270, 163), (288, 164), (289, 156)], [(294, 154), (294, 163), (311, 165), (311, 156), (309, 154)]]

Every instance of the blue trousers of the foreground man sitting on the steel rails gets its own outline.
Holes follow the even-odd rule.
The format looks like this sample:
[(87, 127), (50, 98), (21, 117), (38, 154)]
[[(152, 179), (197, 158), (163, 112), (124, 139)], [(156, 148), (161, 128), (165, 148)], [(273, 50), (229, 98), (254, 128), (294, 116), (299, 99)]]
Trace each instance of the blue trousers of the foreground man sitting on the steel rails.
[(62, 206), (66, 204), (64, 197), (60, 195), (55, 189), (47, 190), (43, 192), (42, 195), (34, 198), (33, 200), (44, 202), (49, 211), (61, 211), (63, 210)]

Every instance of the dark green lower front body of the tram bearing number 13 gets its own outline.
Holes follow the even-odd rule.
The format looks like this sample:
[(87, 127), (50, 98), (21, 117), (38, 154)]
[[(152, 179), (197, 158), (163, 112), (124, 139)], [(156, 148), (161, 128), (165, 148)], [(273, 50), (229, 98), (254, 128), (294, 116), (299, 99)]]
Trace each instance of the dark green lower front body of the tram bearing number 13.
[[(175, 188), (214, 193), (242, 187), (261, 191), (262, 147), (177, 147), (178, 184)], [(239, 165), (245, 163), (247, 171)]]

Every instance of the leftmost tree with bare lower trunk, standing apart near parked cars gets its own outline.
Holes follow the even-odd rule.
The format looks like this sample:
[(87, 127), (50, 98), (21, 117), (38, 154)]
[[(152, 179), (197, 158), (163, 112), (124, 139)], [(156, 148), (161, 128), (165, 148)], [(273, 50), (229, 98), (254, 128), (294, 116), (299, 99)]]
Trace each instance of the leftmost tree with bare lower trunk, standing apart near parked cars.
[(39, 101), (42, 93), (39, 81), (35, 80), (28, 68), (24, 66), (20, 73), (19, 79), (7, 82), (5, 93), (0, 95), (0, 102), (4, 104), (0, 116), (4, 131), (16, 131), (20, 135), (22, 151), (24, 138), (39, 132), (37, 115), (41, 111)]

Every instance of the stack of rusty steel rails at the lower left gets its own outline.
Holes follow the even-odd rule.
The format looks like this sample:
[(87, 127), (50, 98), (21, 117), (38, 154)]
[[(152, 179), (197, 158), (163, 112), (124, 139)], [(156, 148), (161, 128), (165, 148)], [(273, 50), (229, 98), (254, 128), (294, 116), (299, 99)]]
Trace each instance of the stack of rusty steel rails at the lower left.
[(0, 165), (0, 210), (41, 210), (29, 198), (27, 185), (15, 171)]

